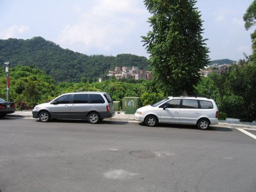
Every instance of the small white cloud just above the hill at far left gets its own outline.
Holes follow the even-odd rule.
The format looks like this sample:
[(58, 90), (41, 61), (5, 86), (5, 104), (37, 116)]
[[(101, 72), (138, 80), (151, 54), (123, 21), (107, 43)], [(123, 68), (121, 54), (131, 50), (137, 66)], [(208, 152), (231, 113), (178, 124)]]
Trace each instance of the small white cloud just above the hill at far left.
[(13, 25), (13, 26), (10, 26), (10, 28), (4, 30), (3, 32), (0, 32), (0, 36), (3, 39), (14, 38), (17, 35), (25, 33), (26, 31), (28, 31), (28, 29), (29, 29), (28, 26)]

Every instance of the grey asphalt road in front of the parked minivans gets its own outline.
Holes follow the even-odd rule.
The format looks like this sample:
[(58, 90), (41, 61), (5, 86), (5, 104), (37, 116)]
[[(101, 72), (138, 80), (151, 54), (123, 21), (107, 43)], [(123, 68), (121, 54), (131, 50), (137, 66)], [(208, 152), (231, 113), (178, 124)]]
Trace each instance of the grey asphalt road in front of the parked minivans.
[(0, 191), (256, 191), (255, 147), (237, 129), (6, 117)]

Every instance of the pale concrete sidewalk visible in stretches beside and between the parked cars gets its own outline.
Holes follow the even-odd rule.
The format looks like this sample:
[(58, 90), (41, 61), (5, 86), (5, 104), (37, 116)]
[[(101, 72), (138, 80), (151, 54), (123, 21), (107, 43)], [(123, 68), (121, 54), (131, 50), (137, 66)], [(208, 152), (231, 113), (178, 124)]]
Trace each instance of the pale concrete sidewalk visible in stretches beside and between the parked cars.
[[(31, 111), (15, 111), (15, 113), (9, 114), (8, 116), (20, 116), (24, 118), (32, 118)], [(134, 119), (133, 114), (116, 113), (115, 116), (109, 118), (115, 121), (127, 121), (127, 122), (138, 122)], [(256, 130), (256, 123), (239, 122), (233, 119), (227, 119), (225, 121), (219, 120), (218, 125), (212, 125), (214, 127), (227, 127), (234, 129), (252, 129)]]

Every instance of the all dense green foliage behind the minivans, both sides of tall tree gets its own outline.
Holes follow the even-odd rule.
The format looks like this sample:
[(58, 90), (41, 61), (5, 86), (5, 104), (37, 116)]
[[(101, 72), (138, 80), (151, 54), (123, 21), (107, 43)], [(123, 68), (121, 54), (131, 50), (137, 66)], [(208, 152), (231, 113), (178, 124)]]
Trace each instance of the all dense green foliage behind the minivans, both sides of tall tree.
[[(196, 95), (216, 100), (221, 112), (229, 118), (246, 121), (256, 119), (256, 64), (243, 61), (224, 74), (211, 74), (195, 86)], [(0, 68), (0, 97), (6, 99), (6, 74)], [(62, 93), (102, 91), (122, 103), (123, 97), (140, 97), (142, 106), (154, 104), (166, 96), (154, 81), (127, 83), (109, 79), (101, 83), (63, 82), (56, 84), (51, 76), (32, 66), (10, 68), (10, 100), (17, 109), (32, 109), (36, 104), (48, 102)]]

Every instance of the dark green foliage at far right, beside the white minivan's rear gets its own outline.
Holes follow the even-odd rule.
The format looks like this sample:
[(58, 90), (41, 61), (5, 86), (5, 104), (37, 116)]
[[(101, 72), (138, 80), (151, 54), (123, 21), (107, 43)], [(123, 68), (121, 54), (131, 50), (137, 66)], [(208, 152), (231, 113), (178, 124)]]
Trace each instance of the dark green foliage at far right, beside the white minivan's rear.
[(230, 72), (212, 73), (195, 87), (196, 95), (216, 100), (221, 112), (247, 122), (256, 120), (256, 60), (239, 61)]

